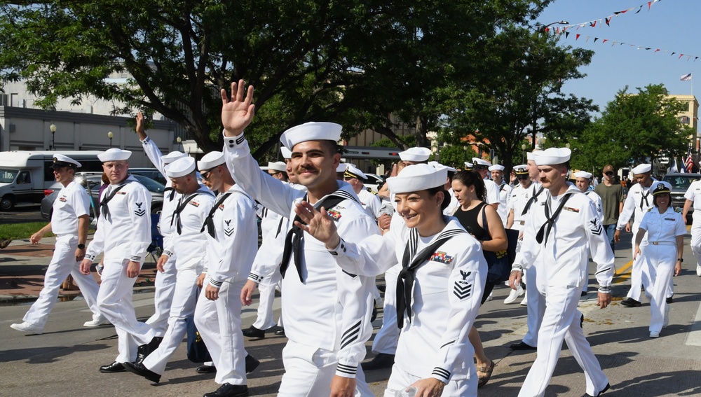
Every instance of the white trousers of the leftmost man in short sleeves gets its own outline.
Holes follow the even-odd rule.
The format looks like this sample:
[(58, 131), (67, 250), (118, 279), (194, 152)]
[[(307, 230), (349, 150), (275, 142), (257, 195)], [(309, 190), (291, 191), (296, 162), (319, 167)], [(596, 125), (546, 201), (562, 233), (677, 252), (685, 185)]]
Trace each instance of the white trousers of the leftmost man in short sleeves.
[(82, 274), (81, 263), (76, 262), (76, 249), (78, 248), (78, 237), (65, 235), (56, 239), (56, 246), (53, 257), (44, 275), (44, 286), (41, 288), (39, 298), (34, 302), (22, 321), (26, 321), (34, 326), (43, 328), (48, 320), (48, 315), (56, 304), (59, 288), (68, 277), (73, 279), (81, 288), (83, 298), (85, 298), (90, 311), (93, 312), (93, 320), (100, 319), (100, 309), (97, 308), (97, 293), (100, 286), (97, 285), (93, 274)]

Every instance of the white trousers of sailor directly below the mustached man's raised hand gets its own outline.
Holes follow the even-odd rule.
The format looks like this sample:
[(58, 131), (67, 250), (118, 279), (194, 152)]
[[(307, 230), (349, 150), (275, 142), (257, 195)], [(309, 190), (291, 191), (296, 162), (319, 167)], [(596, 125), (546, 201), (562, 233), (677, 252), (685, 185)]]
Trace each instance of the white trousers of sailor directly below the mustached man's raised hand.
[[(205, 279), (205, 286), (209, 277)], [(197, 301), (195, 325), (212, 362), (217, 368), (217, 384), (246, 384), (246, 349), (241, 332), (241, 290), (246, 280), (225, 281), (219, 288), (219, 299), (208, 300), (205, 290)]]

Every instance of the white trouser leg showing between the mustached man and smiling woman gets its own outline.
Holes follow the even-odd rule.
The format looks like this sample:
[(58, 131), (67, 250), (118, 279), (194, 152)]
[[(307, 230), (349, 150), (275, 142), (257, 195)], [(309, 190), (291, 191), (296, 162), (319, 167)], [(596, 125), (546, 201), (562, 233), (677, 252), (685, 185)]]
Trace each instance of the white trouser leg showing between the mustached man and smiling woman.
[(382, 327), (372, 341), (374, 354), (395, 354), (400, 328), (397, 327), (397, 278), (401, 265), (390, 267), (385, 272), (385, 300), (383, 302)]

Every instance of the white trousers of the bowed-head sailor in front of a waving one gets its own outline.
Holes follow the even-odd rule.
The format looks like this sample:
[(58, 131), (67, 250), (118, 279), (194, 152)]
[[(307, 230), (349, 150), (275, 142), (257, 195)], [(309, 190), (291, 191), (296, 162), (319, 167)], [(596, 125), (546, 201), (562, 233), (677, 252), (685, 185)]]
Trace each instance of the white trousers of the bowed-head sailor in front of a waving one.
[(163, 375), (165, 365), (168, 364), (177, 347), (182, 344), (187, 333), (185, 319), (195, 313), (198, 275), (195, 269), (182, 269), (177, 272), (175, 293), (168, 317), (168, 330), (165, 331), (158, 349), (144, 360), (144, 366), (157, 374)]

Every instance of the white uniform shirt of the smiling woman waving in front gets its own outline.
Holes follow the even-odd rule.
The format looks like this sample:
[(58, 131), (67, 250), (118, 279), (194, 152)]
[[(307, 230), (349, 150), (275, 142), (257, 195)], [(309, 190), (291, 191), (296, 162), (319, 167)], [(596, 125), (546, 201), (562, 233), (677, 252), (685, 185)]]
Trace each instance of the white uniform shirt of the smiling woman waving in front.
[[(447, 221), (442, 233), (464, 231), (455, 218)], [(401, 264), (407, 244), (414, 244), (414, 252), (418, 253), (442, 233), (416, 238), (418, 233), (411, 233), (401, 223), (383, 236), (368, 237), (357, 243), (342, 238), (331, 253), (346, 272), (372, 276)], [(475, 364), (465, 357), (474, 355), (468, 333), (477, 316), (486, 272), (482, 248), (466, 232), (456, 233), (436, 249), (430, 260), (418, 266), (411, 318), (406, 312), (398, 314), (404, 316), (404, 328), (385, 396), (394, 396), (395, 391), (407, 386), (393, 382), (396, 368), (418, 378), (434, 377), (444, 383), (472, 379), (477, 393)]]

